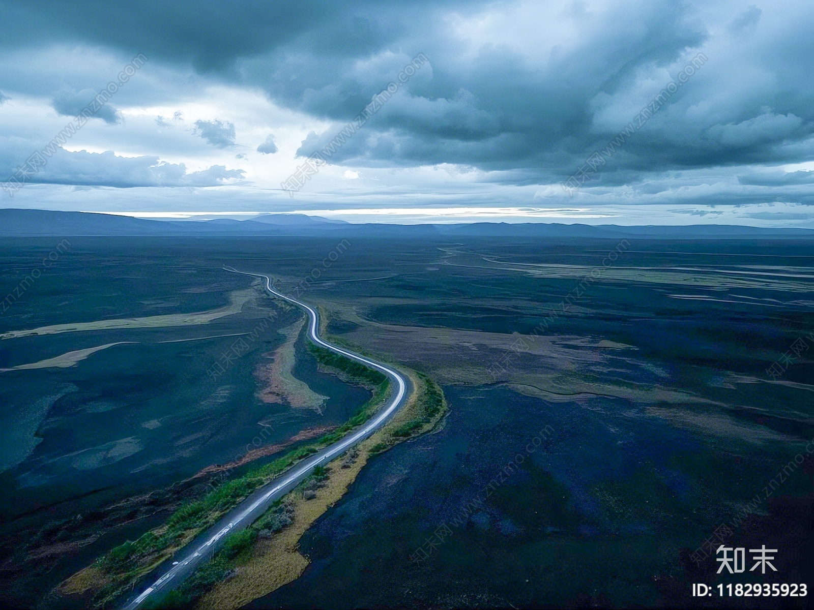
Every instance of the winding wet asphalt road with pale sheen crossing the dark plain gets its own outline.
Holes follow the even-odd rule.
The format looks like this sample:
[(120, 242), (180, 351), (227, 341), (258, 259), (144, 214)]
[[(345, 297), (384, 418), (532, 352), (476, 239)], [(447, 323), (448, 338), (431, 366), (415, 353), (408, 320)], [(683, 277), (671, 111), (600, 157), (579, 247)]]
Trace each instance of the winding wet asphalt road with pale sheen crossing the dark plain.
[(311, 327), (309, 329), (309, 337), (311, 338), (311, 341), (317, 343), (317, 345), (326, 347), (330, 351), (335, 351), (338, 354), (342, 354), (348, 358), (357, 360), (358, 362), (378, 369), (390, 378), (390, 381), (392, 381), (394, 387), (396, 387), (396, 392), (392, 394), (391, 399), (387, 404), (385, 404), (381, 411), (379, 411), (379, 413), (372, 420), (365, 423), (365, 425), (362, 425), (360, 429), (357, 429), (356, 431), (348, 434), (348, 436), (339, 439), (339, 441), (335, 442), (334, 444), (325, 447), (322, 449), (322, 451), (319, 451), (308, 459), (296, 464), (293, 468), (287, 470), (285, 473), (282, 473), (273, 481), (269, 481), (265, 484), (265, 486), (260, 487), (259, 490), (256, 490), (247, 499), (243, 500), (243, 502), (239, 503), (238, 506), (223, 516), (216, 525), (213, 525), (212, 528), (208, 529), (204, 534), (199, 535), (199, 537), (195, 538), (193, 542), (184, 547), (181, 551), (178, 551), (175, 558), (176, 561), (173, 561), (173, 565), (169, 568), (164, 567), (160, 578), (158, 578), (158, 580), (156, 580), (151, 586), (148, 586), (147, 589), (138, 595), (138, 597), (132, 599), (132, 601), (125, 606), (126, 610), (138, 608), (138, 606), (140, 606), (145, 599), (178, 586), (184, 581), (184, 579), (186, 579), (186, 577), (189, 577), (191, 573), (195, 572), (195, 568), (197, 568), (202, 561), (208, 560), (210, 557), (212, 557), (215, 551), (217, 551), (217, 548), (221, 547), (223, 544), (226, 534), (230, 534), (231, 532), (238, 531), (239, 529), (244, 529), (248, 525), (252, 525), (252, 523), (256, 521), (256, 519), (269, 508), (269, 506), (271, 506), (271, 504), (294, 489), (300, 483), (300, 481), (302, 481), (313, 471), (314, 468), (320, 464), (327, 464), (330, 462), (330, 460), (333, 460), (338, 455), (344, 453), (344, 451), (348, 451), (350, 447), (353, 447), (358, 442), (368, 438), (376, 430), (381, 428), (385, 422), (387, 422), (387, 420), (389, 420), (396, 413), (396, 411), (399, 410), (399, 408), (409, 398), (409, 394), (412, 392), (412, 386), (409, 384), (409, 381), (396, 370), (387, 368), (383, 364), (379, 364), (378, 362), (374, 362), (374, 360), (364, 358), (361, 355), (354, 354), (352, 351), (344, 350), (341, 347), (331, 345), (330, 343), (319, 338), (319, 335), (317, 334), (319, 332), (319, 314), (317, 311), (305, 303), (300, 303), (300, 301), (274, 290), (274, 288), (271, 287), (271, 280), (269, 279), (269, 276), (260, 273), (237, 271), (236, 269), (229, 267), (225, 267), (225, 270), (234, 273), (241, 273), (247, 276), (265, 278), (266, 290), (269, 290), (271, 294), (274, 294), (274, 296), (280, 298), (285, 298), (287, 301), (302, 307), (306, 312), (308, 312), (311, 318)]

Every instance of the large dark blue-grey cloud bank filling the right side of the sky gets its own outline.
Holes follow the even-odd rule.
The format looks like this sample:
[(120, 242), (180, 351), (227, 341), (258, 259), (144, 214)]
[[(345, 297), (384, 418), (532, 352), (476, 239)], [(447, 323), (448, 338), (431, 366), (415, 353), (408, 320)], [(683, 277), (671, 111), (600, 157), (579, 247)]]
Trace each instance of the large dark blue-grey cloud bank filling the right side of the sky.
[[(516, 6), (502, 3), (493, 15)], [(457, 16), (475, 19), (481, 8)], [(380, 31), (389, 31), (392, 15), (374, 14)], [(326, 50), (301, 37), (236, 65), (245, 82), (261, 83), (275, 101), (335, 120), (304, 142), (298, 154), (308, 155), (330, 142), (344, 121), (423, 52), (430, 63), (333, 161), (524, 168), (536, 170), (538, 181), (561, 181), (637, 121), (659, 90), (711, 41), (711, 29), (732, 21), (721, 16), (723, 24), (708, 16), (705, 21), (693, 4), (675, 2), (617, 2), (574, 15), (546, 14), (540, 7), (541, 26), (554, 19), (575, 30), (575, 40), (553, 46), (544, 57), (511, 46), (508, 37), (504, 44), (462, 47), (439, 21), (419, 16), (374, 51)], [(737, 18), (737, 28), (754, 29), (759, 16), (759, 9), (750, 8)], [(794, 31), (788, 32), (781, 57), (768, 59), (760, 46), (765, 43), (759, 42), (750, 43), (755, 46), (743, 59), (737, 46), (746, 42), (733, 43), (736, 48), (724, 49), (723, 56), (705, 54), (708, 60), (693, 68), (689, 81), (616, 147), (602, 172), (624, 177), (606, 180), (628, 181), (631, 172), (799, 160), (814, 133), (814, 87), (803, 76), (814, 49), (806, 28), (786, 27)], [(396, 46), (400, 52), (392, 51)], [(781, 48), (774, 42), (768, 46)]]

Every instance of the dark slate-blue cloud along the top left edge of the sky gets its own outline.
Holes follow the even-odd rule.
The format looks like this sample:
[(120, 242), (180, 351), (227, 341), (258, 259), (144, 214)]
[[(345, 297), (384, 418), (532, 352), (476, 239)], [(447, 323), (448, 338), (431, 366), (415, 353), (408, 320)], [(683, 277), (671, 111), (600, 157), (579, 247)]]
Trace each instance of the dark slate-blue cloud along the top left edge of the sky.
[(373, 2), (344, 7), (329, 0), (201, 0), (194, 7), (120, 0), (95, 3), (93, 11), (77, 11), (62, 2), (4, 0), (0, 14), (7, 44), (90, 41), (173, 63), (190, 62), (202, 72), (212, 72), (229, 68), (239, 57), (293, 41), (313, 30), (314, 24), (347, 20), (348, 13), (365, 14), (373, 7)]

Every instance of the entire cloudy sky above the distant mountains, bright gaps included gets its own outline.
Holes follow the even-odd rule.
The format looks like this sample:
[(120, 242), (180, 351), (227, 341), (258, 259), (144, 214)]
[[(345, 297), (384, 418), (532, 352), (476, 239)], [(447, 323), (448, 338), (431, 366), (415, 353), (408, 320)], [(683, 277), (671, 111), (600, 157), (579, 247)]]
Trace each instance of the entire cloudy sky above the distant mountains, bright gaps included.
[[(0, 16), (0, 177), (28, 167), (0, 207), (814, 228), (812, 2), (0, 2)], [(400, 73), (329, 163), (281, 189)]]

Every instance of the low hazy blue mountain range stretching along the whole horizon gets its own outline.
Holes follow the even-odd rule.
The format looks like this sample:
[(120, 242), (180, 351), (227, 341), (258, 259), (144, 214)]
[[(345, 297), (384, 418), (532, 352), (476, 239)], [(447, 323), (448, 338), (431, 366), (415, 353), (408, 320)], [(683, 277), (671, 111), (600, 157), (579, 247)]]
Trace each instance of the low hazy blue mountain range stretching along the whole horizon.
[(462, 223), (352, 224), (305, 214), (267, 214), (252, 220), (145, 220), (81, 211), (0, 210), (0, 237), (70, 236), (295, 237), (624, 237), (654, 239), (814, 238), (812, 229), (760, 229), (733, 224), (633, 226), (616, 224)]

